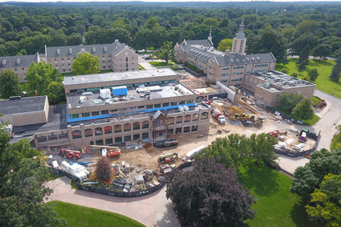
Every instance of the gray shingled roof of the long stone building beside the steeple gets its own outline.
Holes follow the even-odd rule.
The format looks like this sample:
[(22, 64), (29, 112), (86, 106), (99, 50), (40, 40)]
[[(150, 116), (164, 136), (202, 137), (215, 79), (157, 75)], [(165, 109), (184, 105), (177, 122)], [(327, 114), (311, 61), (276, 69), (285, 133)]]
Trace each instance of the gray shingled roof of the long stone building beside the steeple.
[[(186, 41), (187, 42), (187, 41)], [(242, 65), (247, 64), (247, 62), (273, 62), (276, 60), (274, 55), (271, 52), (263, 53), (263, 54), (254, 54), (254, 55), (229, 55), (224, 56), (224, 53), (218, 50), (205, 47), (199, 47), (199, 45), (183, 45), (183, 49), (185, 52), (190, 55), (195, 55), (197, 57), (202, 58), (203, 60), (210, 60), (210, 57), (215, 57), (217, 59), (218, 65)]]

